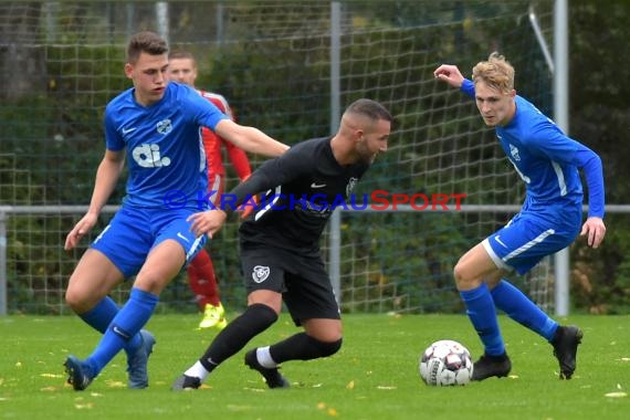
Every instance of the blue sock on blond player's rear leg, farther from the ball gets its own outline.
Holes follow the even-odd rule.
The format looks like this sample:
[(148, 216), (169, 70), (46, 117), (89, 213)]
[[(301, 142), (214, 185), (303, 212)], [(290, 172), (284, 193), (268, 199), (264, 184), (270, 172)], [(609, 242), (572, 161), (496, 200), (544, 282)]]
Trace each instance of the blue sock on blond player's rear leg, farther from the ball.
[(543, 309), (532, 302), (523, 292), (505, 279), (498, 282), (491, 292), (494, 304), (507, 316), (550, 342), (558, 323), (549, 318)]

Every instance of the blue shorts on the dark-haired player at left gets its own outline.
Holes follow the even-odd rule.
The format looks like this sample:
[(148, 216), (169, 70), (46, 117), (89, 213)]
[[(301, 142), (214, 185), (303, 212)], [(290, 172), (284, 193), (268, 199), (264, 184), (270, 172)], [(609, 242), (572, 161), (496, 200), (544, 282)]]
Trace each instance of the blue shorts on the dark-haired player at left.
[(197, 211), (199, 210), (123, 206), (91, 246), (104, 253), (123, 272), (125, 279), (136, 275), (149, 251), (167, 239), (177, 241), (183, 248), (186, 265), (207, 240), (206, 235), (195, 237), (190, 231), (190, 222), (186, 221)]

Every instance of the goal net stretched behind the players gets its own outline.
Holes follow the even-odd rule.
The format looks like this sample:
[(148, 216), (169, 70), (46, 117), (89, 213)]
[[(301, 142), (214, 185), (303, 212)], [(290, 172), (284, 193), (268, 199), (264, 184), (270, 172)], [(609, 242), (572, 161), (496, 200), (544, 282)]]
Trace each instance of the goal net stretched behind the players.
[[(9, 312), (69, 311), (64, 288), (87, 242), (63, 251), (65, 234), (83, 216), (67, 206), (90, 201), (104, 153), (104, 107), (130, 86), (124, 49), (143, 29), (195, 53), (198, 87), (223, 94), (240, 123), (290, 145), (329, 135), (337, 97), (342, 108), (359, 97), (385, 104), (396, 117), (389, 150), (356, 195), (465, 195), (462, 204), (483, 209), (456, 211), (451, 200), (450, 211), (343, 212), (339, 230), (322, 242), (326, 261), (339, 262), (342, 308), (462, 311), (453, 265), (510, 219), (514, 211), (497, 206), (517, 207), (524, 188), (474, 103), (432, 72), (452, 63), (470, 76), (476, 62), (498, 51), (516, 67), (517, 92), (550, 115), (552, 75), (528, 19), (533, 7), (552, 43), (550, 3), (0, 2), (0, 276)], [(330, 46), (336, 34), (338, 63)], [(255, 168), (262, 160), (251, 161)], [(230, 175), (229, 188), (235, 185)], [(122, 181), (109, 203), (123, 196)], [(111, 216), (103, 214), (94, 234)], [(245, 302), (237, 228), (238, 221), (229, 223), (210, 248), (222, 300), (234, 309)], [(338, 255), (330, 255), (330, 235), (340, 238)], [(549, 264), (512, 279), (547, 309)], [(127, 288), (115, 297), (122, 301)], [(193, 312), (192, 300), (182, 273), (162, 293), (160, 308)]]

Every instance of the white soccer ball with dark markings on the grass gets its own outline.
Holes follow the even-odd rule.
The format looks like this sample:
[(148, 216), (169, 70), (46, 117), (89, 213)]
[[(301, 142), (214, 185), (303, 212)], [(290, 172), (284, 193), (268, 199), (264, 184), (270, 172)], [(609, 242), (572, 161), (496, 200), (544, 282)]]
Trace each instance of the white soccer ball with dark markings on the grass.
[(451, 339), (433, 343), (420, 357), (420, 377), (427, 385), (466, 385), (472, 372), (470, 351), (461, 343)]

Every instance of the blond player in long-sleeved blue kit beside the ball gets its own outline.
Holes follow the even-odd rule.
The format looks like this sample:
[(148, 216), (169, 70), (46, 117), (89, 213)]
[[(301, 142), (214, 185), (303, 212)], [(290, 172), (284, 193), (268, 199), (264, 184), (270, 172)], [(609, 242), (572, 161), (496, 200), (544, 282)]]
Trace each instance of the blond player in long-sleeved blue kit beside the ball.
[[(492, 53), (487, 61), (477, 63), (472, 81), (450, 64), (439, 66), (434, 76), (475, 99), (483, 120), (495, 128), (501, 147), (527, 191), (521, 211), (468, 251), (454, 267), (458, 290), (484, 346), (484, 355), (474, 364), (473, 380), (505, 377), (512, 369), (496, 308), (549, 342), (559, 363), (560, 379), (570, 379), (582, 332), (576, 326), (558, 325), (505, 276), (511, 271), (526, 273), (544, 256), (571, 244), (580, 233), (590, 246), (599, 246), (606, 234), (601, 160), (516, 95), (514, 67), (502, 55)], [(579, 169), (589, 191), (584, 225)]]

